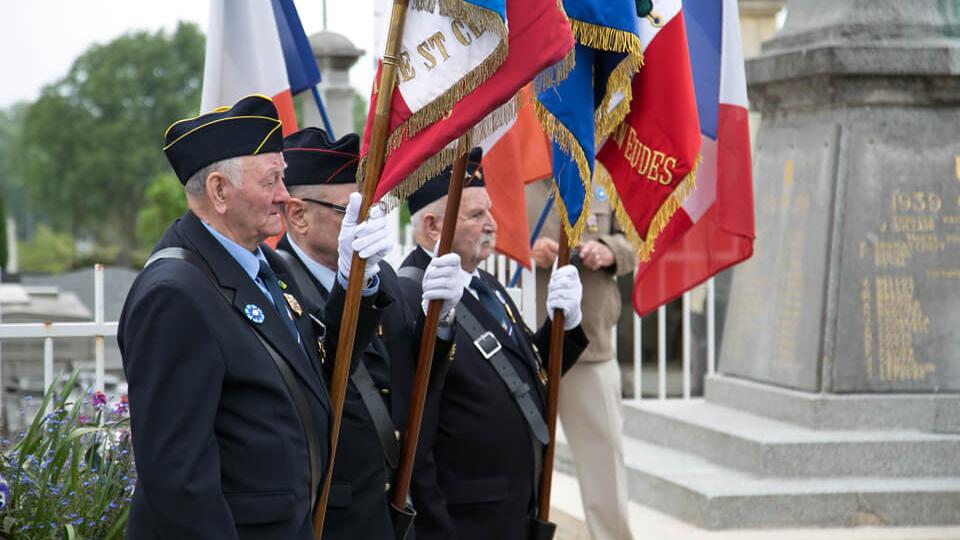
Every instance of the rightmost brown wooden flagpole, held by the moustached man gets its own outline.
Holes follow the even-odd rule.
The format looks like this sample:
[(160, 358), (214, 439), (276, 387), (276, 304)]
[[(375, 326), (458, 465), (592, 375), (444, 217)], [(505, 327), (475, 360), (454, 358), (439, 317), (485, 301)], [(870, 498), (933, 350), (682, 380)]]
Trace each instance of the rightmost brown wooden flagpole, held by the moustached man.
[[(557, 255), (557, 268), (570, 264), (570, 245), (567, 232), (560, 228), (560, 253)], [(563, 364), (563, 311), (553, 310), (550, 323), (550, 364), (547, 366), (547, 430), (550, 442), (543, 457), (543, 471), (540, 475), (540, 490), (537, 517), (550, 521), (550, 488), (553, 480), (553, 456), (557, 449), (557, 410), (560, 404), (560, 376)]]

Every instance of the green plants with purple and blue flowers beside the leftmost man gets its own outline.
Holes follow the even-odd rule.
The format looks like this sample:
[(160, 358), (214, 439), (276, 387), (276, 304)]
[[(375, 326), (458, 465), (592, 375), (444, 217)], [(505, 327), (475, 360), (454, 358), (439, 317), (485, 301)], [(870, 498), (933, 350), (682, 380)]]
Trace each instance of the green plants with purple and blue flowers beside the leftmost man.
[(4, 538), (122, 539), (135, 478), (125, 404), (110, 410), (103, 394), (80, 391), (76, 372), (62, 386), (58, 377), (0, 471)]

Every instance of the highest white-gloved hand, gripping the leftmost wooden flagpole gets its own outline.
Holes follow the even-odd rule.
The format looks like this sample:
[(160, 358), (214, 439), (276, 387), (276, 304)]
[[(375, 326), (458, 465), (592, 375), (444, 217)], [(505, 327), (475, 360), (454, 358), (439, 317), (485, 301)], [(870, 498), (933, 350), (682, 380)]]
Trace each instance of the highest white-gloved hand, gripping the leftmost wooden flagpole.
[(356, 251), (361, 259), (366, 259), (367, 266), (363, 272), (364, 281), (369, 281), (380, 271), (380, 261), (393, 249), (393, 239), (387, 229), (387, 219), (379, 206), (370, 209), (367, 220), (357, 224), (360, 214), (359, 193), (350, 194), (347, 212), (340, 224), (340, 234), (337, 237), (337, 267), (344, 277), (350, 276), (350, 265), (353, 262), (353, 252)]

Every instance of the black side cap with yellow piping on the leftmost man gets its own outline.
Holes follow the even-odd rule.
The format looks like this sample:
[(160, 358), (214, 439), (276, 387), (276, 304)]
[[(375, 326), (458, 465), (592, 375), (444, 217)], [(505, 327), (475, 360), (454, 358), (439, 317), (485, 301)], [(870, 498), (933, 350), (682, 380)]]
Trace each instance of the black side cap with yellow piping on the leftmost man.
[(259, 94), (233, 107), (174, 122), (163, 134), (163, 151), (182, 184), (211, 163), (282, 150), (277, 108), (273, 100)]

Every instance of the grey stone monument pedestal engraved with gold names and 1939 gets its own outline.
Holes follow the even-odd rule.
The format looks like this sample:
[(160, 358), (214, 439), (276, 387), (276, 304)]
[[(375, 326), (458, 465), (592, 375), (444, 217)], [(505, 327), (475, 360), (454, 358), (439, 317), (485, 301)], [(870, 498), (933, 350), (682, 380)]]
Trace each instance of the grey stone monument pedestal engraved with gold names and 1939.
[(757, 244), (727, 375), (960, 392), (960, 5), (792, 0), (747, 64)]

